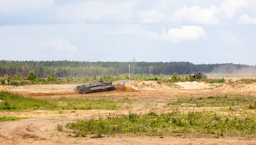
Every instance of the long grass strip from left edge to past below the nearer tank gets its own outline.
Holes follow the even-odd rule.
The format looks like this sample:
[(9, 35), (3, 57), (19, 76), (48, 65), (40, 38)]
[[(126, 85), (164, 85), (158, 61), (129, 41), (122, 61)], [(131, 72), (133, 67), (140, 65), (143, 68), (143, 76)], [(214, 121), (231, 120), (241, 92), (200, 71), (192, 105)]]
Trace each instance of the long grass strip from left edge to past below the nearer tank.
[(15, 95), (8, 91), (0, 92), (0, 110), (116, 110), (117, 102), (127, 102), (129, 99), (114, 101), (111, 98), (54, 98), (40, 99)]

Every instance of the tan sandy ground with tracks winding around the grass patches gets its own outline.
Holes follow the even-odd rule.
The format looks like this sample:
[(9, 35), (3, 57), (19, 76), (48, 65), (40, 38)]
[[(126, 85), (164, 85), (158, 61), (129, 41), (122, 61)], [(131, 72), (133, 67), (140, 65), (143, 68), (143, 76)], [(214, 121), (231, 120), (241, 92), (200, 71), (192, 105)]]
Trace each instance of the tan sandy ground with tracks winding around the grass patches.
[[(114, 82), (120, 83), (120, 82)], [(126, 84), (129, 86), (129, 84)], [(164, 109), (163, 104), (170, 99), (180, 97), (207, 97), (224, 94), (249, 94), (256, 95), (256, 83), (252, 84), (220, 84), (210, 85), (199, 82), (161, 83), (157, 81), (131, 81), (130, 86), (140, 92), (110, 91), (80, 95), (74, 93), (74, 85), (26, 85), (26, 86), (2, 86), (0, 90), (8, 90), (36, 98), (107, 98), (129, 97), (135, 98), (138, 104), (132, 104), (127, 110), (37, 110), (0, 112), (0, 116), (29, 117), (20, 121), (0, 122), (0, 144), (256, 144), (256, 140), (243, 137), (225, 137), (220, 139), (193, 138), (192, 136), (164, 136), (164, 138), (116, 135), (105, 136), (101, 139), (86, 137), (71, 137), (67, 133), (56, 130), (57, 124), (66, 124), (81, 118), (106, 117), (107, 115), (118, 116), (134, 113), (167, 113), (171, 109)], [(183, 104), (186, 106), (186, 104)], [(220, 107), (183, 107), (181, 111), (191, 110), (218, 110)]]

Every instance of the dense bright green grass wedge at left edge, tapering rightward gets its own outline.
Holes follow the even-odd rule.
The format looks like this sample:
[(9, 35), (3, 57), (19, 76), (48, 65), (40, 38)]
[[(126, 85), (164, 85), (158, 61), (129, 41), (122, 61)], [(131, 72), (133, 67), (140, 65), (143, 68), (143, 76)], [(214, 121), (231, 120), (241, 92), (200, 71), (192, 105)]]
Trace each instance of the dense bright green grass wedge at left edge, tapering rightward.
[(49, 103), (47, 100), (23, 97), (21, 95), (11, 94), (8, 91), (0, 92), (0, 110), (26, 110), (39, 109), (44, 107), (46, 109), (56, 109), (57, 104)]

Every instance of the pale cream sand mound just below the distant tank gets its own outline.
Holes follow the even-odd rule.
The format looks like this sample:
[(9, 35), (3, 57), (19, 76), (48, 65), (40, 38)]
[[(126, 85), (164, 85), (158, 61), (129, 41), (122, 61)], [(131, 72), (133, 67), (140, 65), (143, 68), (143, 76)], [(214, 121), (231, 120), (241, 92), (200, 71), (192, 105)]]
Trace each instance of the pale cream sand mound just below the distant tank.
[(205, 89), (209, 88), (209, 84), (204, 82), (177, 82), (175, 83), (180, 85), (182, 89)]

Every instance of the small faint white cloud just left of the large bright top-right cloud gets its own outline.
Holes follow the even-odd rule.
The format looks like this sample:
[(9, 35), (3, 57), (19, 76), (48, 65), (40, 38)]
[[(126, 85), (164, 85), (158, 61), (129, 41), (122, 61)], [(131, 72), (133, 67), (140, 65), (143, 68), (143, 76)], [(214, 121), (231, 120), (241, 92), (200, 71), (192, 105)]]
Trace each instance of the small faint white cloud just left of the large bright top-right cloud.
[(161, 21), (165, 21), (166, 19), (166, 16), (163, 12), (159, 12), (156, 10), (139, 12), (138, 17), (141, 23), (158, 23)]

